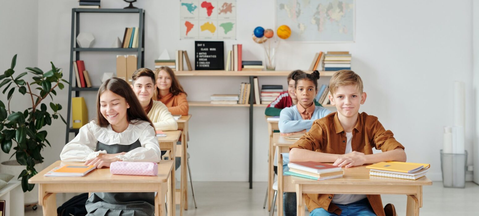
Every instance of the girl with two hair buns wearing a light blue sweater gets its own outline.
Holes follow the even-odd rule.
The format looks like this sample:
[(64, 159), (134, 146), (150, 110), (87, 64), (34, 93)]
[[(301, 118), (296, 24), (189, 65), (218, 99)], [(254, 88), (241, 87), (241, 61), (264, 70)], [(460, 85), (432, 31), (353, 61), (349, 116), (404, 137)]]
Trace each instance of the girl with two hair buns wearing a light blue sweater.
[[(314, 71), (312, 74), (294, 72), (292, 78), (296, 81), (295, 95), (298, 104), (281, 110), (278, 122), (281, 135), (306, 133), (316, 119), (321, 119), (331, 113), (326, 108), (315, 106), (313, 101), (318, 94), (318, 71)], [(288, 171), (288, 162), (289, 154), (283, 154), (283, 172)], [(283, 203), (285, 203), (285, 216), (296, 215), (296, 193), (284, 193)]]

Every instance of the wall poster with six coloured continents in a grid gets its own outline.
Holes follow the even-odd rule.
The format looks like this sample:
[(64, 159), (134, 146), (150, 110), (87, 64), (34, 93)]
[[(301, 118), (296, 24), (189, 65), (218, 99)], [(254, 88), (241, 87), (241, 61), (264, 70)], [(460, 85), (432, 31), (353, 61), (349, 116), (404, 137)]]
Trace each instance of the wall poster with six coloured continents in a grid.
[(236, 0), (181, 0), (180, 39), (236, 39)]

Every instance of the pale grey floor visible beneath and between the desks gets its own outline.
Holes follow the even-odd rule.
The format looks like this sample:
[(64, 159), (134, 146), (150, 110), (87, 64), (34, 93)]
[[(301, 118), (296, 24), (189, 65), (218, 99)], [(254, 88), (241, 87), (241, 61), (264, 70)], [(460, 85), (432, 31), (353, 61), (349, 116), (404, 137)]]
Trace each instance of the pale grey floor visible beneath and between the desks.
[[(242, 182), (195, 182), (194, 189), (198, 208), (194, 208), (191, 189), (189, 190), (189, 210), (185, 216), (267, 216), (263, 209), (266, 183)], [(75, 194), (57, 194), (57, 205), (61, 205)], [(441, 182), (423, 187), (423, 207), (421, 216), (477, 216), (479, 215), (479, 185), (467, 183), (466, 188), (444, 188)], [(405, 195), (383, 195), (383, 204), (393, 203), (398, 215), (406, 215)], [(269, 206), (269, 204), (267, 204)], [(275, 212), (276, 213), (276, 212)], [(25, 209), (25, 216), (41, 216), (42, 208), (36, 211)], [(179, 215), (179, 207), (177, 207)]]

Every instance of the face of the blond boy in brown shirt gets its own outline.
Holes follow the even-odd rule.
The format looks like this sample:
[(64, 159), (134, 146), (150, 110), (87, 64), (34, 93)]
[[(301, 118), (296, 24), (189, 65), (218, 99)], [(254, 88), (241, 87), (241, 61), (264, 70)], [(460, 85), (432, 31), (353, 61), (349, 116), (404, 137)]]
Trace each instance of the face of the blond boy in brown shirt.
[(366, 93), (359, 92), (356, 85), (338, 86), (329, 96), (331, 104), (336, 106), (338, 114), (346, 118), (356, 118), (359, 107), (366, 101)]

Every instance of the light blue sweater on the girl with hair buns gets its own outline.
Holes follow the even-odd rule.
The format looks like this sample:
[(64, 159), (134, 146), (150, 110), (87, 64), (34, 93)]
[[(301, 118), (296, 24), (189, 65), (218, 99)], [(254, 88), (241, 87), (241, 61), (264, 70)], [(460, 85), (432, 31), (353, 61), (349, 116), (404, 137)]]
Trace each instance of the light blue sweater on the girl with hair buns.
[(313, 115), (311, 115), (311, 119), (303, 120), (297, 106), (284, 108), (279, 115), (279, 131), (282, 133), (293, 133), (306, 129), (308, 132), (313, 125), (313, 121), (321, 119), (330, 113), (331, 111), (329, 109), (316, 106)]

